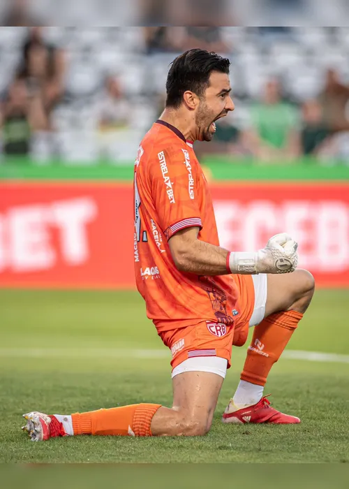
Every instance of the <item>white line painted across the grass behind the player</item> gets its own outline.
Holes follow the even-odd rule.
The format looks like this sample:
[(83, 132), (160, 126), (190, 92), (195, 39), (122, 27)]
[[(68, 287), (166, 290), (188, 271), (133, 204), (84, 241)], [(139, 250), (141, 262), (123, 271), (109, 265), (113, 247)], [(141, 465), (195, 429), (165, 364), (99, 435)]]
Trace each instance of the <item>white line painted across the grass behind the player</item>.
[[(240, 355), (245, 351), (234, 351)], [(2, 348), (0, 358), (169, 358), (170, 352), (159, 349), (111, 349), (111, 348)], [(320, 351), (286, 350), (283, 358), (322, 363), (349, 363), (349, 355)]]

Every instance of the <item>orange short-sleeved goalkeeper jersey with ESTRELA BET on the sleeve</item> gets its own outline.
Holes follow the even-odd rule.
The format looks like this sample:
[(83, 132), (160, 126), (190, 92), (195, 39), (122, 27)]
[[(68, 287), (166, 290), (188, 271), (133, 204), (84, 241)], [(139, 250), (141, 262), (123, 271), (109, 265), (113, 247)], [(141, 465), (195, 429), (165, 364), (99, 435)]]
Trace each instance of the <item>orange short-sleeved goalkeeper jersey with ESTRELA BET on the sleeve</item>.
[(199, 321), (234, 323), (239, 314), (232, 275), (179, 272), (168, 240), (198, 226), (198, 239), (219, 246), (214, 208), (193, 145), (173, 126), (157, 121), (135, 161), (135, 277), (158, 332)]

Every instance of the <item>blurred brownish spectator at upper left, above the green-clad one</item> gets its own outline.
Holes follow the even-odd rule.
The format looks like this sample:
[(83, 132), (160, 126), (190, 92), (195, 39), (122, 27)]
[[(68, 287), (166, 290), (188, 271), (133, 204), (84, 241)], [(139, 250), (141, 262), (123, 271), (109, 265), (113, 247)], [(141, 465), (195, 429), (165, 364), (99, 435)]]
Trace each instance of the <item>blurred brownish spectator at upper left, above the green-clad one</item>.
[(47, 128), (50, 114), (64, 94), (64, 51), (47, 43), (43, 27), (32, 27), (22, 48), (20, 77), (27, 80), (31, 93), (40, 92), (47, 113)]

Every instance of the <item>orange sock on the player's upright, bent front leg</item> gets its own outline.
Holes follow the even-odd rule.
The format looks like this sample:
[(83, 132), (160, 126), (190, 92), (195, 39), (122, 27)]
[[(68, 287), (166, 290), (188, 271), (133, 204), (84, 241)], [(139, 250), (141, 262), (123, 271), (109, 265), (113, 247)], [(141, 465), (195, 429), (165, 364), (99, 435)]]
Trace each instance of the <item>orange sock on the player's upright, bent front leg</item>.
[(279, 360), (302, 317), (297, 311), (276, 312), (255, 326), (242, 380), (265, 386), (270, 369)]

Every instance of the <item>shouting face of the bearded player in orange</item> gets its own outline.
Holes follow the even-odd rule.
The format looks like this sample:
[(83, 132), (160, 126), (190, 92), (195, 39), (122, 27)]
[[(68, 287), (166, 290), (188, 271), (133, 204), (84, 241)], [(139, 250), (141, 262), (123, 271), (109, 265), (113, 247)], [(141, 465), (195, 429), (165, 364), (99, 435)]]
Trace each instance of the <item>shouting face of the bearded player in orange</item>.
[(225, 73), (214, 71), (209, 78), (209, 87), (195, 114), (195, 123), (198, 127), (198, 140), (211, 141), (216, 132), (217, 119), (224, 117), (235, 109), (234, 102), (230, 97), (230, 80)]

